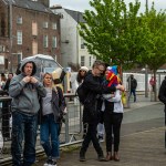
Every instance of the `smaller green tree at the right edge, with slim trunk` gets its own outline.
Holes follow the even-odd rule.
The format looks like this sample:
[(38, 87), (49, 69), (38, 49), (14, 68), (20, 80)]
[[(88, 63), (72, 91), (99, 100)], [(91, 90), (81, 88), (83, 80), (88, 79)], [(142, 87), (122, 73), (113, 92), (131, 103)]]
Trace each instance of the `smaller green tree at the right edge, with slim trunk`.
[[(141, 33), (143, 34), (139, 43), (141, 54), (138, 61), (147, 64), (153, 71), (156, 80), (156, 71), (166, 63), (166, 14), (165, 11), (157, 12), (154, 3), (151, 10), (141, 14)], [(157, 100), (155, 85), (155, 101)]]

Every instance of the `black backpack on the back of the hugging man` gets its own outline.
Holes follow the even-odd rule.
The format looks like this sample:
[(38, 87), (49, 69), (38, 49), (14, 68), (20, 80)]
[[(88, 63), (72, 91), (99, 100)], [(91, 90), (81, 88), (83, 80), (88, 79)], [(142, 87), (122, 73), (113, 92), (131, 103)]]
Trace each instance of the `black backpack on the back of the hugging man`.
[(84, 102), (85, 102), (85, 98), (86, 98), (86, 93), (85, 93), (83, 83), (79, 85), (79, 87), (76, 89), (75, 94), (77, 95), (80, 103), (82, 105), (84, 105)]

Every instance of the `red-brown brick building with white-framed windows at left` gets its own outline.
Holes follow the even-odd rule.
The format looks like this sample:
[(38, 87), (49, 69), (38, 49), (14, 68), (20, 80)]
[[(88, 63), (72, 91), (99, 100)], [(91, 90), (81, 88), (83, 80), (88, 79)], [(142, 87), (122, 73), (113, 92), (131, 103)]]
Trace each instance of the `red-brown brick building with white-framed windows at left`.
[(61, 63), (61, 15), (49, 8), (50, 0), (0, 0), (0, 72), (39, 53)]

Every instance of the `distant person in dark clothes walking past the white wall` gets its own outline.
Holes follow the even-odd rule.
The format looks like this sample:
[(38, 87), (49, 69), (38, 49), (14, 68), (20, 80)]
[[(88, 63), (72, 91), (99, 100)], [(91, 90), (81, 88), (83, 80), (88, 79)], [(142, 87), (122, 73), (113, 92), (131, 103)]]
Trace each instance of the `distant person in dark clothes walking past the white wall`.
[(133, 94), (133, 95), (134, 95), (134, 102), (136, 102), (136, 87), (137, 87), (137, 81), (136, 81), (136, 79), (134, 77), (134, 75), (131, 74), (131, 76), (127, 79), (127, 82), (128, 82), (129, 87), (131, 87), (131, 94), (129, 94), (129, 97), (131, 97), (131, 95)]

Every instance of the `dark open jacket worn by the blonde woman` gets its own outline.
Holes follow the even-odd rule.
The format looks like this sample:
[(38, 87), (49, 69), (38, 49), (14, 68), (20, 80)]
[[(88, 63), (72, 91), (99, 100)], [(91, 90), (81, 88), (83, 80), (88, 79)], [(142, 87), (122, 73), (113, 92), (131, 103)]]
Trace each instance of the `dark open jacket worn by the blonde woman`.
[[(63, 92), (61, 87), (56, 86), (56, 91), (53, 89), (52, 90), (52, 110), (53, 110), (53, 115), (54, 115), (54, 121), (55, 123), (61, 123), (63, 118), (63, 111), (66, 107), (65, 100), (63, 96)], [(43, 115), (42, 115), (42, 98), (40, 100), (40, 105), (41, 108), (39, 111), (39, 124), (43, 122)]]

